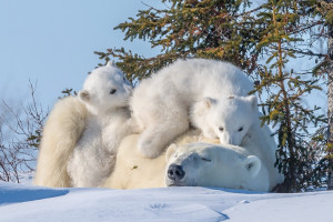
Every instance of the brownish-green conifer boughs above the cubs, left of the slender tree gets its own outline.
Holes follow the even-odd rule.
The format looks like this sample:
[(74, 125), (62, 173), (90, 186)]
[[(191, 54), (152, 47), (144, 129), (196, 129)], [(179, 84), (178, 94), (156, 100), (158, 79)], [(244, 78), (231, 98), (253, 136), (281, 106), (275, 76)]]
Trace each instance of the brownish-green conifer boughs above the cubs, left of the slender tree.
[(114, 29), (124, 32), (124, 40), (141, 39), (161, 49), (154, 58), (127, 51), (123, 48), (95, 52), (100, 59), (118, 58), (117, 63), (130, 80), (149, 77), (178, 58), (210, 58), (231, 61), (252, 68), (258, 53), (248, 53), (258, 41), (259, 29), (244, 11), (248, 1), (189, 0), (162, 1), (170, 8), (149, 7), (140, 10), (137, 19), (120, 23)]

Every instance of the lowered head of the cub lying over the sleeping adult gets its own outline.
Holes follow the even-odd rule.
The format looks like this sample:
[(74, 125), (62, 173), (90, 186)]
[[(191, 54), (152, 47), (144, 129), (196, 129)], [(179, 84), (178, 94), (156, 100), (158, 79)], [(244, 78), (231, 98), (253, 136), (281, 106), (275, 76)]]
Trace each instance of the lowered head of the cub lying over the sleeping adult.
[(204, 137), (219, 138), (222, 144), (240, 145), (255, 121), (259, 121), (255, 95), (204, 98), (191, 110), (193, 124)]

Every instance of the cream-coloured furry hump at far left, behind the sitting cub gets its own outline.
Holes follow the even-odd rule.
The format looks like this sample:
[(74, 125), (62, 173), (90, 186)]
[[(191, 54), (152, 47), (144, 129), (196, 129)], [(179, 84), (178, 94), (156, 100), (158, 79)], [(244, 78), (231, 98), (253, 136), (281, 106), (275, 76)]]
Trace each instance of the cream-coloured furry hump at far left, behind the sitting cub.
[(43, 128), (33, 183), (68, 188), (67, 165), (85, 129), (87, 109), (75, 97), (59, 100)]

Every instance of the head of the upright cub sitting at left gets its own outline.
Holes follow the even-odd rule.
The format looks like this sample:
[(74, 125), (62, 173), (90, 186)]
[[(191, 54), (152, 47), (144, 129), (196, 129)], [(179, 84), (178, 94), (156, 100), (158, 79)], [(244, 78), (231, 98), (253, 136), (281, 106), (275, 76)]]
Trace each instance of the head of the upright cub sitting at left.
[(79, 99), (92, 113), (105, 113), (128, 105), (132, 84), (112, 62), (93, 70), (84, 81)]

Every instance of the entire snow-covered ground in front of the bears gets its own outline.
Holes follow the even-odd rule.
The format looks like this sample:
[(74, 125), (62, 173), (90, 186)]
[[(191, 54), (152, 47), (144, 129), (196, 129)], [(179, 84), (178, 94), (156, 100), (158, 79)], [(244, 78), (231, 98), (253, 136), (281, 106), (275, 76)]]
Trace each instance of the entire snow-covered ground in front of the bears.
[(0, 221), (330, 220), (333, 192), (259, 193), (218, 188), (49, 189), (0, 182)]

